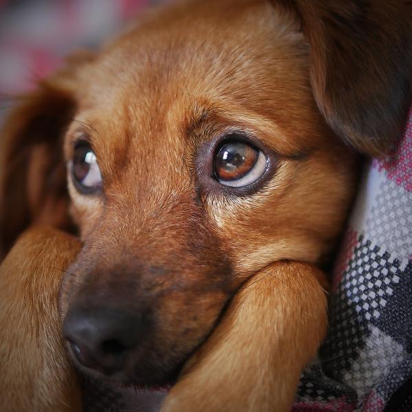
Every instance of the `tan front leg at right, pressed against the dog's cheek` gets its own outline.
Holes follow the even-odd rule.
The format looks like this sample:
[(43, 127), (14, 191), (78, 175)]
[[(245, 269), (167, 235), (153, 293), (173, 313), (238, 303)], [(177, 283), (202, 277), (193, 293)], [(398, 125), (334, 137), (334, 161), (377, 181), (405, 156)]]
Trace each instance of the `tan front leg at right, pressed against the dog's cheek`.
[(290, 411), (325, 334), (323, 274), (282, 262), (244, 284), (190, 360), (162, 412)]

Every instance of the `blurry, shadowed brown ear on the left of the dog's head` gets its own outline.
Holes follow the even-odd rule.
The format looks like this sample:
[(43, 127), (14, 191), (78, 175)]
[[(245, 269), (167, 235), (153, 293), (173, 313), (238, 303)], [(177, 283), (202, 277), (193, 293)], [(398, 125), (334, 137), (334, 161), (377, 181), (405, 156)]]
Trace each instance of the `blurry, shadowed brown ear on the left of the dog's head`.
[(76, 110), (81, 52), (19, 99), (0, 133), (0, 257), (32, 223), (69, 229), (62, 134)]

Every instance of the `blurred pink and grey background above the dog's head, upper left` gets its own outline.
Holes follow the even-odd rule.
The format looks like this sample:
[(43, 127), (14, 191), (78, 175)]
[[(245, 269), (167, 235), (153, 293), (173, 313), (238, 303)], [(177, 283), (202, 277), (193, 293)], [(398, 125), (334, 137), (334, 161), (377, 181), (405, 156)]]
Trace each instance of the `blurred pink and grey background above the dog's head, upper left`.
[(159, 0), (0, 0), (0, 104), (76, 49), (95, 48)]

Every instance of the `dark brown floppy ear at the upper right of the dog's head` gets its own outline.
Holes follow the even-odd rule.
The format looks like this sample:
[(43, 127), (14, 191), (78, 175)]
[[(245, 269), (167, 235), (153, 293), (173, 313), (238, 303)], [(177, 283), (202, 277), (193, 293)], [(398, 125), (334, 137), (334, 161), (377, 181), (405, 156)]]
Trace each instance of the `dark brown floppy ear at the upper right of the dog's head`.
[(301, 21), (326, 122), (361, 152), (387, 152), (411, 104), (412, 2), (280, 1)]

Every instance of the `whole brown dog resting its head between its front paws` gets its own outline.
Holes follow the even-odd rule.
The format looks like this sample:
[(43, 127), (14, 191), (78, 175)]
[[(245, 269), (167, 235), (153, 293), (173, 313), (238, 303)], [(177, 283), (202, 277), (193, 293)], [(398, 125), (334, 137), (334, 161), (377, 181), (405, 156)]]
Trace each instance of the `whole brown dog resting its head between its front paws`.
[(31, 229), (3, 262), (0, 406), (78, 405), (62, 278), (82, 372), (161, 385), (185, 365), (164, 411), (288, 411), (325, 333), (317, 266), (356, 187), (344, 141), (379, 155), (400, 132), (411, 13), (185, 1), (27, 96), (2, 136), (3, 253), (34, 223), (83, 245), (75, 259), (76, 240)]

